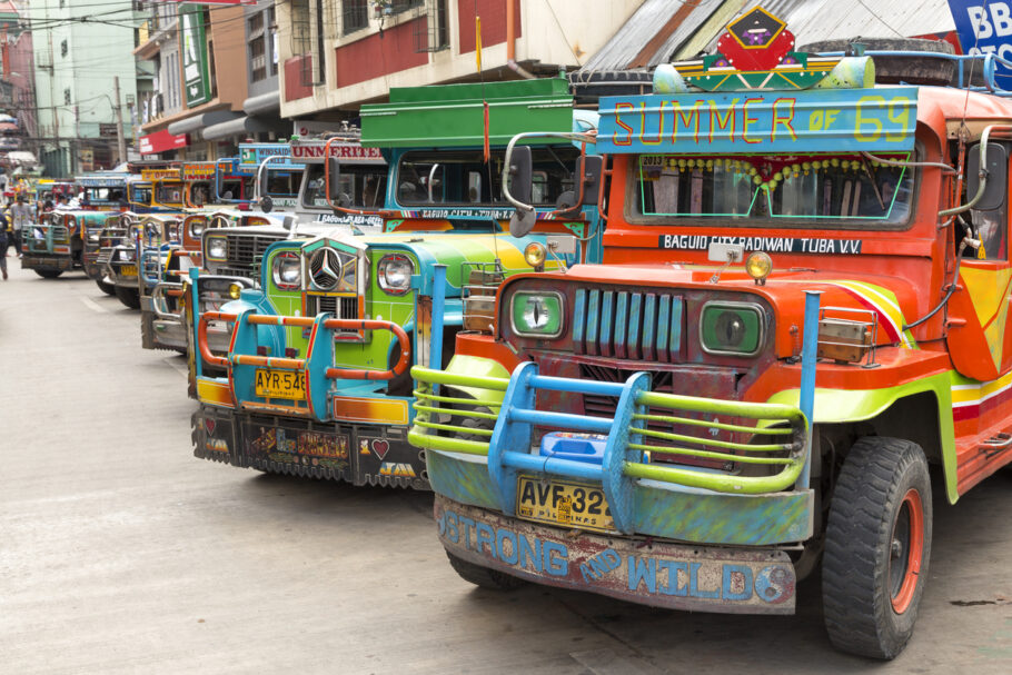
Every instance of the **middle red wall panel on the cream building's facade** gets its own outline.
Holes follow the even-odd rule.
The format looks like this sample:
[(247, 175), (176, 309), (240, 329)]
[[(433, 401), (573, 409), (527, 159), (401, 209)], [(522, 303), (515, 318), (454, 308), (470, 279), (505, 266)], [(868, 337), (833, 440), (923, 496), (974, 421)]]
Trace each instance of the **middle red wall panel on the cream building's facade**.
[(337, 48), (337, 86), (348, 87), (375, 78), (425, 66), (428, 52), (415, 51), (415, 32), (425, 33), (425, 17)]

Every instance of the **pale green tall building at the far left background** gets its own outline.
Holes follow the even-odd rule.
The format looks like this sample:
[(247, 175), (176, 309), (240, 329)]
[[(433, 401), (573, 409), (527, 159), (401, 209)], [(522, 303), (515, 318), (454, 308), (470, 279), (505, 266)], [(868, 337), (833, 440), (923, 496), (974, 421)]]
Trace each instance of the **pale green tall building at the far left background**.
[[(132, 4), (122, 4), (103, 12), (102, 21), (89, 21), (92, 0), (31, 0), (37, 139), (49, 176), (127, 159), (117, 148), (116, 108), (137, 97), (133, 59), (123, 58), (133, 49), (136, 20)], [(129, 116), (122, 118), (130, 138)]]

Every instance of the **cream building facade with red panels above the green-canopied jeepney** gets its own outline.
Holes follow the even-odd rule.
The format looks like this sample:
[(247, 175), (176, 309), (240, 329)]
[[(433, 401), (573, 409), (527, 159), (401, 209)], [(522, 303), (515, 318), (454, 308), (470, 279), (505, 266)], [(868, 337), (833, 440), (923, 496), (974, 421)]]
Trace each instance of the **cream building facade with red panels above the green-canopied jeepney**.
[[(556, 75), (583, 64), (642, 0), (287, 0), (281, 113), (343, 119), (391, 87)], [(478, 21), (480, 19), (480, 29)]]

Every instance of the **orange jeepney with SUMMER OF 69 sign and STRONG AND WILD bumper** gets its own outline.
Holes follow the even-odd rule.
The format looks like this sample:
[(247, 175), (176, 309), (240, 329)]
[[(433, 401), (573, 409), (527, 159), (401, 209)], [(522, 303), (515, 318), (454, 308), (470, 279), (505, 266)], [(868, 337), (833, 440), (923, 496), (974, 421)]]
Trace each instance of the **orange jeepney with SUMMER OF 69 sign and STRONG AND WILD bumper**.
[(1012, 460), (1012, 102), (758, 9), (718, 44), (601, 100), (604, 265), (506, 279), (408, 437), (474, 584), (790, 614), (821, 566), (832, 643), (892, 658), (930, 473), (954, 503)]

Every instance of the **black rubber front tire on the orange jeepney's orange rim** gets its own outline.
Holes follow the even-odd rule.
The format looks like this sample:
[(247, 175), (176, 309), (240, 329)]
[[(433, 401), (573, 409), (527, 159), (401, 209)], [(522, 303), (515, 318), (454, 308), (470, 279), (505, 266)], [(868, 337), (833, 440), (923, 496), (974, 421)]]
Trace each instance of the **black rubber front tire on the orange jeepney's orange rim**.
[[(907, 553), (901, 577), (915, 585), (897, 613), (890, 572), (894, 546), (900, 545), (901, 550), (903, 546), (895, 538), (902, 533), (894, 529), (911, 490), (916, 492), (921, 505), (920, 569), (911, 570)], [(917, 444), (867, 436), (853, 445), (833, 493), (822, 563), (823, 615), (836, 648), (882, 659), (894, 658), (903, 651), (913, 634), (927, 583), (931, 507), (927, 460)], [(907, 519), (911, 509), (907, 506)], [(910, 529), (912, 533), (914, 528)], [(910, 535), (907, 542), (913, 538)]]

